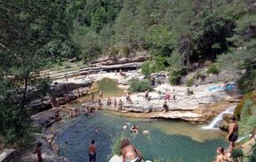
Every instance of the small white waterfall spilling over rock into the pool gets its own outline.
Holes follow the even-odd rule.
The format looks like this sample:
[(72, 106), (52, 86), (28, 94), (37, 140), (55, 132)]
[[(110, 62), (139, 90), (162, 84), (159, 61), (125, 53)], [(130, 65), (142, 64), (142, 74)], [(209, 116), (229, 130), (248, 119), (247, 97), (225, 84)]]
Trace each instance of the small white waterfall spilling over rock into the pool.
[(216, 116), (208, 126), (201, 127), (202, 129), (218, 129), (218, 125), (220, 121), (223, 119), (224, 114), (233, 114), (236, 105), (228, 107), (228, 109), (224, 112), (221, 112), (218, 116)]

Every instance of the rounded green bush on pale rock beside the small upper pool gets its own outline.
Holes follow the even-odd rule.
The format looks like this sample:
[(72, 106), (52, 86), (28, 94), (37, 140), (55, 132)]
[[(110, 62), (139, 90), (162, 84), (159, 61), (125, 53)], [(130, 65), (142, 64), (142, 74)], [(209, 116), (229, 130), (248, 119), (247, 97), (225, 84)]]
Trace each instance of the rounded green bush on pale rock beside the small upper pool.
[(149, 91), (153, 90), (152, 86), (150, 85), (149, 81), (147, 81), (147, 80), (139, 81), (138, 79), (132, 79), (129, 82), (130, 82), (130, 84), (129, 84), (128, 90), (131, 92), (144, 92), (147, 89)]

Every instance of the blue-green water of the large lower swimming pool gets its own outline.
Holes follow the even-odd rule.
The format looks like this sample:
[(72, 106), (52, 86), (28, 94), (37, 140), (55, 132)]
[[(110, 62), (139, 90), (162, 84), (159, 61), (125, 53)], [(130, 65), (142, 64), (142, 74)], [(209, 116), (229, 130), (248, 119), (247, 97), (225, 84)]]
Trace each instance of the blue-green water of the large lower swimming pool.
[[(139, 120), (116, 116), (112, 112), (98, 112), (93, 117), (80, 116), (70, 122), (70, 127), (60, 132), (57, 143), (60, 155), (73, 162), (89, 161), (87, 147), (92, 139), (97, 145), (97, 162), (108, 161), (111, 143), (122, 134), (126, 122), (140, 126), (139, 135), (133, 137), (129, 129), (124, 134), (145, 159), (181, 158), (185, 162), (209, 162), (214, 159), (218, 146), (228, 146), (220, 131), (205, 131), (199, 126), (175, 120)], [(143, 129), (148, 129), (150, 135), (142, 135)]]

